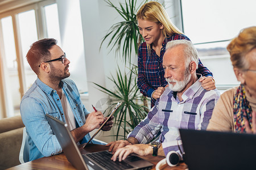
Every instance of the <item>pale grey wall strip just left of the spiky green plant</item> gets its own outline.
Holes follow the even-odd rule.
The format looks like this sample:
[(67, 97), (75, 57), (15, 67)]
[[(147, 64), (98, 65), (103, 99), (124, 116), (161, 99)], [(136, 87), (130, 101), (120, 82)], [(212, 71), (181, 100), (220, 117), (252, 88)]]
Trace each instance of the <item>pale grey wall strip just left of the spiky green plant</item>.
[[(80, 1), (80, 8), (82, 30), (84, 33), (86, 75), (88, 79), (88, 102), (95, 105), (98, 100), (107, 97), (104, 93), (98, 91), (92, 83), (94, 82), (101, 86), (106, 86), (105, 72), (108, 72), (108, 67), (106, 67), (105, 71), (106, 63), (104, 63), (106, 56), (104, 49), (99, 51), (101, 39), (104, 36), (102, 30), (104, 30), (105, 26), (101, 21), (101, 9), (98, 1)], [(111, 67), (111, 62), (108, 63), (108, 65)]]

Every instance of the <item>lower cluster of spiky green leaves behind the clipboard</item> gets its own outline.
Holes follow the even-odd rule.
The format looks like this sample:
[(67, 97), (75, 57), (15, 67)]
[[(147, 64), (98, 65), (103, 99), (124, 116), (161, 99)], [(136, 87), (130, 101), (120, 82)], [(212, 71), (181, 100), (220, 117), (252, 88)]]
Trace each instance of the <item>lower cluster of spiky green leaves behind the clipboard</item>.
[[(106, 111), (111, 111), (118, 102), (122, 102), (114, 113), (114, 122), (117, 125), (117, 134), (115, 135), (117, 140), (119, 136), (125, 139), (127, 134), (147, 115), (141, 100), (142, 95), (134, 78), (136, 76), (134, 71), (136, 71), (136, 68), (133, 66), (129, 74), (122, 74), (118, 67), (117, 78), (114, 79), (113, 75), (109, 78), (115, 84), (114, 90), (108, 90), (108, 88), (94, 83), (100, 91), (110, 97), (111, 104)], [(123, 133), (119, 135), (121, 129), (123, 129)]]

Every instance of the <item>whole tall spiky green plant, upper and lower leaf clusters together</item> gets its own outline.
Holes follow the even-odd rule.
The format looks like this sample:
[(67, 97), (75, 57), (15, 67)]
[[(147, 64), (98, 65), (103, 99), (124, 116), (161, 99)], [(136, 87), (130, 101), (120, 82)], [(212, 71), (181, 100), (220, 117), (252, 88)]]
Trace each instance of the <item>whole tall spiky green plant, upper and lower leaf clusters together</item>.
[[(111, 50), (115, 50), (115, 55), (120, 55), (122, 61), (129, 63), (129, 73), (122, 74), (119, 67), (116, 71), (117, 78), (111, 76), (109, 78), (115, 87), (113, 90), (108, 90), (99, 84), (94, 83), (97, 88), (109, 95), (112, 103), (106, 110), (111, 110), (117, 104), (122, 102), (121, 107), (115, 112), (114, 122), (117, 125), (118, 137), (126, 138), (127, 134), (135, 128), (143, 120), (148, 113), (147, 99), (140, 92), (137, 87), (137, 66), (131, 64), (131, 57), (136, 57), (138, 54), (138, 46), (142, 43), (142, 36), (139, 33), (137, 26), (136, 14), (140, 5), (137, 6), (137, 0), (126, 0), (125, 3), (119, 3), (119, 6), (115, 6), (110, 0), (105, 2), (123, 18), (122, 22), (118, 22), (110, 27), (109, 31), (104, 36), (102, 44), (109, 40), (107, 47)], [(121, 55), (122, 53), (122, 55)], [(105, 112), (106, 112), (105, 111)], [(123, 133), (120, 132), (123, 130)]]

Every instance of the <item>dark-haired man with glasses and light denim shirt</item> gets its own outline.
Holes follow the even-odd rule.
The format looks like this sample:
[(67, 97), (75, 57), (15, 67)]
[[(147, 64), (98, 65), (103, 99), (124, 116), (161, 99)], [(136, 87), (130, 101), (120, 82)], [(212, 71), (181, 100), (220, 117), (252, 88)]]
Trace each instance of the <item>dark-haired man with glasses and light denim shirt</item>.
[[(38, 76), (20, 103), (20, 114), (30, 145), (29, 160), (62, 151), (46, 114), (66, 122), (76, 142), (89, 141), (89, 132), (99, 128), (105, 118), (101, 112), (87, 111), (76, 84), (66, 79), (70, 76), (70, 61), (57, 41), (43, 39), (34, 42), (28, 50), (27, 61)], [(103, 130), (112, 128), (112, 119), (106, 122)]]

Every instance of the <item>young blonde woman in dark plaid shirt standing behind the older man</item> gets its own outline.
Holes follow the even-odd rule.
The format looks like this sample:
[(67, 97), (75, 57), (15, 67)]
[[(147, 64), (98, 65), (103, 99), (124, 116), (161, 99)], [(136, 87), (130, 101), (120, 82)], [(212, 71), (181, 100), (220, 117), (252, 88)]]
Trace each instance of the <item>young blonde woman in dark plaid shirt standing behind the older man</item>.
[[(153, 107), (167, 85), (162, 66), (167, 42), (190, 40), (172, 24), (164, 7), (158, 2), (145, 3), (137, 13), (137, 20), (139, 32), (145, 40), (139, 46), (137, 84), (144, 96), (151, 97)], [(203, 66), (200, 59), (197, 73), (203, 75), (201, 84), (206, 90), (216, 88), (212, 73)]]

